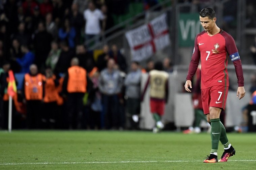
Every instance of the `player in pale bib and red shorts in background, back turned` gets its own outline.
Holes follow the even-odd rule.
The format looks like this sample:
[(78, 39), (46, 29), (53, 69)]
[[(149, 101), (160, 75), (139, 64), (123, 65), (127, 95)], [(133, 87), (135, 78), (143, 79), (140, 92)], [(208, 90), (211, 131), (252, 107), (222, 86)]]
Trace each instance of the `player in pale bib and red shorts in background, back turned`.
[(150, 85), (150, 112), (152, 113), (155, 121), (153, 133), (157, 133), (164, 128), (164, 124), (161, 121), (165, 111), (165, 103), (168, 101), (168, 73), (163, 71), (163, 63), (157, 61), (154, 65), (154, 69), (149, 72), (147, 82), (145, 84), (141, 100), (143, 101), (148, 85)]

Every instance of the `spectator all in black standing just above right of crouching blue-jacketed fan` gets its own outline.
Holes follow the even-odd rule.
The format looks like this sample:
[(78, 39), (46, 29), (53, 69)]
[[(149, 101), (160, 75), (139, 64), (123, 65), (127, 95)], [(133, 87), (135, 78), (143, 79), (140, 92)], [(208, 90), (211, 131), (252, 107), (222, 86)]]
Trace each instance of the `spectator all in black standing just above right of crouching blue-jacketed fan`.
[(45, 61), (51, 50), (51, 41), (52, 35), (46, 31), (44, 23), (40, 22), (33, 39), (35, 64), (40, 71), (45, 68)]

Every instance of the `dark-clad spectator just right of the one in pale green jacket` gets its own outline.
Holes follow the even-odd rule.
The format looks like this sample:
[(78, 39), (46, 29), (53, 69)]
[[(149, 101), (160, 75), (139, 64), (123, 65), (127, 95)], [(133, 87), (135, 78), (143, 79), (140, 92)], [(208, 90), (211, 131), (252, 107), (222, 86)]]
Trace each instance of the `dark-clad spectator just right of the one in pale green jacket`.
[(75, 56), (74, 50), (71, 50), (66, 41), (60, 42), (61, 53), (55, 67), (55, 75), (66, 73), (70, 67), (70, 61)]

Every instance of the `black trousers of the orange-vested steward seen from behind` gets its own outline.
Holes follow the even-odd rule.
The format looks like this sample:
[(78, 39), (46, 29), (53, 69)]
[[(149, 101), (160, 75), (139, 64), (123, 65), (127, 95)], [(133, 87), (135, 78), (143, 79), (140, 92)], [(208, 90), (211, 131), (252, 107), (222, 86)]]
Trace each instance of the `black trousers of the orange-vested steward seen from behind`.
[(69, 128), (81, 128), (84, 93), (69, 93), (67, 96), (68, 125)]

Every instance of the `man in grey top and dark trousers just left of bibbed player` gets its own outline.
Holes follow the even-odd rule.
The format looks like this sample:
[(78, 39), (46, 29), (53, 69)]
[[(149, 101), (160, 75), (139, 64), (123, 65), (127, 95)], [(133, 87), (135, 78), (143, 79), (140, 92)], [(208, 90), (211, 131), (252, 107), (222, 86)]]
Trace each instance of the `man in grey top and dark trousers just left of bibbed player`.
[(139, 129), (141, 74), (139, 63), (133, 61), (131, 70), (124, 80), (126, 108), (129, 113), (131, 129)]

